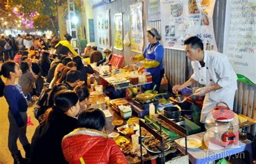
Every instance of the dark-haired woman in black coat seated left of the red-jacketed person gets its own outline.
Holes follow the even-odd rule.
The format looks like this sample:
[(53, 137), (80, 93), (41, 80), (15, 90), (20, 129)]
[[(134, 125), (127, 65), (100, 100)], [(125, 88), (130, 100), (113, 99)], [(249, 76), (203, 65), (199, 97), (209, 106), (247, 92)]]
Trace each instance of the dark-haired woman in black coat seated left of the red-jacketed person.
[(68, 163), (62, 153), (62, 138), (77, 128), (79, 100), (75, 92), (59, 91), (55, 105), (46, 111), (31, 144), (31, 163)]

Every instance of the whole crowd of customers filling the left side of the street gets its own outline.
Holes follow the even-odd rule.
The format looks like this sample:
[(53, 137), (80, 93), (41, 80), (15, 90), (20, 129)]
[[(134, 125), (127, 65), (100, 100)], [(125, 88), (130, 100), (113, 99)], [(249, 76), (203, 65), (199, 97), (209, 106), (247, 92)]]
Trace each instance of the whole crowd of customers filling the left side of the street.
[[(14, 163), (127, 163), (103, 130), (104, 113), (89, 107), (87, 76), (94, 71), (83, 58), (107, 64), (111, 51), (104, 50), (102, 56), (96, 46), (87, 44), (85, 53), (78, 56), (71, 39), (70, 35), (60, 40), (29, 34), (0, 38), (0, 96), (9, 105), (8, 147)], [(30, 142), (26, 112), (33, 101), (37, 105), (43, 101), (45, 93), (49, 94), (44, 100), (48, 106), (40, 117), (35, 112), (39, 126)], [(18, 149), (18, 139), (25, 156)]]

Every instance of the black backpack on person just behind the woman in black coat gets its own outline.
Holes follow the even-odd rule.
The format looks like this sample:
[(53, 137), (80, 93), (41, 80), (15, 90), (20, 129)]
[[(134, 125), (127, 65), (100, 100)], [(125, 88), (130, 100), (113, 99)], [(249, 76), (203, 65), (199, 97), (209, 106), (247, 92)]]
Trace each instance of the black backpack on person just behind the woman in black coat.
[(34, 116), (39, 122), (43, 120), (45, 111), (53, 106), (54, 95), (58, 91), (59, 86), (68, 87), (66, 84), (58, 84), (54, 85), (52, 88), (44, 89), (40, 94), (33, 110)]

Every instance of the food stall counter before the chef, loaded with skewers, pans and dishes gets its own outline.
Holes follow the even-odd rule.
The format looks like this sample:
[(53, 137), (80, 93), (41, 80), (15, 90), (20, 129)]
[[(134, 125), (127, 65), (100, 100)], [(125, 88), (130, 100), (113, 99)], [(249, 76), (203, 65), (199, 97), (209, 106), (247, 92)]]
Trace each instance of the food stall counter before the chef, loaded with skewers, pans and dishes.
[[(138, 95), (135, 98), (149, 96), (149, 94), (142, 93)], [(205, 151), (202, 147), (202, 138), (205, 132), (201, 132), (198, 125), (182, 116), (183, 110), (178, 105), (174, 105), (175, 103), (172, 102), (171, 105), (167, 104), (163, 107), (163, 104), (158, 101), (159, 98), (154, 98), (155, 100), (150, 101), (150, 104), (154, 104), (156, 110), (154, 114), (151, 114), (149, 112), (150, 104), (136, 104), (133, 99), (126, 100), (125, 98), (109, 100), (105, 97), (106, 95), (103, 93), (97, 94), (91, 91), (90, 101), (95, 107), (98, 106), (103, 109), (106, 115), (105, 131), (110, 138), (116, 141), (129, 163), (141, 163), (149, 160), (157, 160), (160, 163), (171, 160), (178, 162), (179, 158), (181, 161), (188, 161), (189, 159), (192, 163), (212, 161), (207, 157), (199, 158), (199, 154), (202, 152), (214, 152), (214, 150), (209, 149)], [(186, 101), (189, 103), (195, 100), (187, 99)], [(173, 107), (178, 108), (178, 117), (175, 119), (172, 118), (173, 115), (168, 115), (170, 113), (165, 112), (165, 110)], [(250, 126), (256, 122), (241, 114), (237, 115), (236, 119), (238, 127)], [(133, 134), (136, 134), (137, 141), (134, 141)], [(226, 145), (221, 149), (224, 152), (223, 155), (216, 156), (214, 160), (243, 151), (248, 151), (252, 156), (251, 141), (241, 141), (237, 136), (238, 140), (239, 148), (233, 147), (234, 144)], [(133, 147), (134, 143), (137, 143), (135, 148)], [(143, 154), (142, 158), (140, 154)]]

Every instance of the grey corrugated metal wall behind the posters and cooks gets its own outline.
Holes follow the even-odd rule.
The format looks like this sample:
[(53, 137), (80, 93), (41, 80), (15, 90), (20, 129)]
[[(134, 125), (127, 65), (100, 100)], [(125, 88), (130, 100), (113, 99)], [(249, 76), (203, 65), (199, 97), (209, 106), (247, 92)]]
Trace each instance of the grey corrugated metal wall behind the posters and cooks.
[[(94, 9), (94, 15), (97, 16), (99, 12), (110, 9), (110, 23), (113, 27), (113, 16), (114, 13), (123, 12), (124, 21), (124, 35), (126, 32), (130, 32), (130, 4), (137, 2), (145, 2), (146, 0), (135, 1), (135, 0), (117, 0), (113, 3), (99, 6)], [(215, 33), (215, 40), (217, 42), (219, 52), (223, 52), (224, 42), (224, 26), (225, 26), (225, 10), (226, 1), (216, 0), (213, 14), (213, 26)], [(95, 21), (96, 17), (95, 17)], [(156, 28), (159, 32), (161, 31), (161, 21), (147, 22), (146, 5), (143, 5), (143, 25), (144, 31), (147, 28)], [(97, 25), (97, 23), (95, 23)], [(95, 27), (96, 29), (96, 27)], [(96, 32), (97, 33), (97, 32)], [(113, 45), (113, 28), (111, 29), (111, 45)], [(97, 38), (97, 36), (96, 36)], [(97, 42), (96, 42), (97, 44)], [(146, 37), (144, 36), (144, 45), (147, 44)], [(125, 56), (125, 65), (130, 64), (130, 57), (137, 54), (130, 51), (130, 47), (124, 46), (123, 51), (113, 50), (114, 53), (123, 54)], [(188, 64), (188, 73), (186, 74), (186, 64)], [(164, 54), (164, 67), (166, 76), (172, 80), (173, 84), (181, 84), (190, 77), (193, 70), (190, 62), (186, 62), (186, 55), (184, 51), (165, 49)], [(235, 94), (234, 111), (247, 115), (250, 118), (256, 119), (256, 86), (248, 85), (245, 83), (238, 83), (238, 91)], [(256, 134), (255, 125), (248, 127), (253, 135)]]

